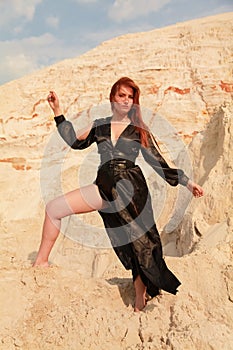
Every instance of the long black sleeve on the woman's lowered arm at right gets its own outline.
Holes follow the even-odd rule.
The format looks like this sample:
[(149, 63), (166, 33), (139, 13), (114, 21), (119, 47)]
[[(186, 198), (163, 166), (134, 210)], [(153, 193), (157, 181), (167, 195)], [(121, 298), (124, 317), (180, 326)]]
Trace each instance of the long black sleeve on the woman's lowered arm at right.
[(155, 147), (152, 137), (150, 134), (148, 135), (148, 147), (141, 147), (141, 153), (145, 161), (171, 186), (177, 186), (178, 184), (186, 186), (189, 181), (188, 176), (181, 169), (170, 168)]

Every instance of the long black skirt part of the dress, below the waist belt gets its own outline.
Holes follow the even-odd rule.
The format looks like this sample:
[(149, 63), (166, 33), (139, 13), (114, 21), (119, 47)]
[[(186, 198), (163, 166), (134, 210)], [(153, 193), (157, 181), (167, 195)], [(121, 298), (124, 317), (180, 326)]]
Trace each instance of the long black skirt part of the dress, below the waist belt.
[(117, 162), (113, 169), (105, 166), (96, 180), (101, 196), (109, 203), (99, 214), (112, 247), (124, 267), (132, 270), (133, 280), (140, 275), (151, 297), (160, 289), (176, 294), (180, 281), (163, 259), (142, 171), (138, 166), (118, 171), (118, 164), (121, 163)]

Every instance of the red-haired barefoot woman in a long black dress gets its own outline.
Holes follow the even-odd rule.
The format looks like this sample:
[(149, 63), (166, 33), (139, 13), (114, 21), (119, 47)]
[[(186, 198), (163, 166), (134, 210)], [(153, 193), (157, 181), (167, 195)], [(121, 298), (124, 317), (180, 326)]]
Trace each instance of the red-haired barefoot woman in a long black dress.
[(146, 293), (153, 297), (163, 289), (176, 294), (180, 285), (163, 259), (148, 187), (141, 169), (135, 165), (139, 151), (170, 185), (187, 186), (195, 197), (203, 195), (199, 185), (181, 169), (170, 168), (158, 152), (142, 120), (139, 95), (133, 80), (119, 79), (110, 92), (112, 116), (96, 119), (77, 136), (71, 122), (62, 115), (56, 93), (50, 91), (48, 103), (61, 137), (73, 149), (84, 149), (96, 142), (101, 161), (95, 183), (47, 204), (41, 245), (34, 263), (34, 266), (48, 266), (63, 217), (97, 210), (117, 256), (126, 269), (132, 270), (135, 311), (144, 308)]

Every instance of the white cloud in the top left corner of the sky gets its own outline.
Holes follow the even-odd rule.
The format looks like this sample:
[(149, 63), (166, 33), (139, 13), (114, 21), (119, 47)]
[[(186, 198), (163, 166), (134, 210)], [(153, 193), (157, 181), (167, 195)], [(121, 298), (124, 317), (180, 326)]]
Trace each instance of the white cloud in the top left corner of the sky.
[(22, 17), (31, 21), (35, 9), (43, 0), (8, 0), (0, 1), (0, 23), (1, 26), (11, 23), (12, 20)]

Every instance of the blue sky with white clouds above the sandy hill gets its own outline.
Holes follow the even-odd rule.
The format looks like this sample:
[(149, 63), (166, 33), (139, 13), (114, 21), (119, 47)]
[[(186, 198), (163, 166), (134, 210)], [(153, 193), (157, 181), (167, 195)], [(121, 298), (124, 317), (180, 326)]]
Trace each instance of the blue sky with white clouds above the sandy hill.
[(0, 0), (0, 85), (116, 36), (233, 11), (233, 0)]

